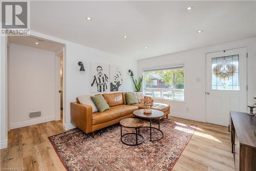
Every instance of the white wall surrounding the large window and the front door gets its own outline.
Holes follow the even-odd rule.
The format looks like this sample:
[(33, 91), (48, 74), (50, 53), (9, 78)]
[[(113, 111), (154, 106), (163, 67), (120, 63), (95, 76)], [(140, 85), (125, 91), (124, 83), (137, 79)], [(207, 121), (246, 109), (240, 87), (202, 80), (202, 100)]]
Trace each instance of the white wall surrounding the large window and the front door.
[[(185, 101), (155, 100), (155, 102), (169, 104), (171, 115), (173, 116), (205, 122), (205, 53), (239, 47), (247, 47), (248, 102), (255, 102), (255, 100), (253, 100), (253, 94), (256, 93), (256, 37), (140, 60), (138, 61), (138, 73), (142, 75), (143, 69), (145, 68), (184, 63)], [(197, 78), (200, 78), (201, 82), (197, 82)]]

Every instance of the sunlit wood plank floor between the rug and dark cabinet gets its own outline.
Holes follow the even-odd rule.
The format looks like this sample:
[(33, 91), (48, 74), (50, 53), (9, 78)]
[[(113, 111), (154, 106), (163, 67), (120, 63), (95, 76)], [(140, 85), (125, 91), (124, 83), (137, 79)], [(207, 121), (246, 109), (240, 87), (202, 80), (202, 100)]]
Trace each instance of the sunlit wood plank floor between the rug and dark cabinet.
[(234, 170), (227, 127), (168, 118), (198, 125), (173, 170)]

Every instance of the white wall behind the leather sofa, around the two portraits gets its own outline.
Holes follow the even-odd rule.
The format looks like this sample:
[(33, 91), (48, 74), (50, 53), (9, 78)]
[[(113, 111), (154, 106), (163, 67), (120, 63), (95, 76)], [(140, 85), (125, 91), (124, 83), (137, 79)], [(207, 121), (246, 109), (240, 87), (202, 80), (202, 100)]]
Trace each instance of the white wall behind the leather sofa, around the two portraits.
[[(85, 72), (79, 72), (78, 62), (83, 62)], [(132, 79), (128, 70), (137, 73), (137, 61), (92, 49), (82, 45), (69, 43), (66, 46), (66, 120), (70, 123), (70, 102), (82, 94), (91, 94), (91, 62), (99, 62), (123, 67), (123, 91), (134, 91)], [(68, 128), (69, 125), (66, 125)]]

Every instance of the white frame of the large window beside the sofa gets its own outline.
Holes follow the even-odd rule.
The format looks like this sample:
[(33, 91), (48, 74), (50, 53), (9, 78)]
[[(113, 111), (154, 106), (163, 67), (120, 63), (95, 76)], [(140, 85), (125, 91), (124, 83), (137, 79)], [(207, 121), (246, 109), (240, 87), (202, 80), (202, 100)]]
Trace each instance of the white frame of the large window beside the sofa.
[[(146, 83), (145, 83), (145, 72), (146, 71), (157, 71), (157, 70), (172, 70), (172, 69), (178, 69), (178, 68), (183, 68), (184, 70), (184, 88), (181, 89), (183, 90), (183, 100), (182, 99), (165, 99), (165, 98), (159, 98), (159, 97), (152, 97), (153, 99), (155, 100), (162, 100), (162, 101), (174, 101), (174, 102), (180, 102), (180, 103), (185, 103), (185, 63), (178, 63), (178, 64), (174, 64), (174, 65), (167, 65), (167, 66), (158, 66), (158, 67), (149, 67), (149, 68), (143, 68), (142, 69), (142, 74), (143, 74), (143, 85), (142, 85), (142, 92), (145, 96), (145, 90), (147, 89), (145, 86), (146, 86)], [(154, 88), (150, 88), (150, 89), (154, 89)], [(165, 89), (165, 88), (156, 88), (156, 89)], [(171, 89), (170, 89), (171, 90)]]

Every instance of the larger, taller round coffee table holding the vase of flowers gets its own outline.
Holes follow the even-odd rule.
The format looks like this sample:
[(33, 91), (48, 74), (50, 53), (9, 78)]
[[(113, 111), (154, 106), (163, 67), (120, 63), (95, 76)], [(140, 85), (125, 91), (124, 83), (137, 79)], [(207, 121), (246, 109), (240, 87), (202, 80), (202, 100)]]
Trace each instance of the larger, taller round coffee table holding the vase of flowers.
[[(150, 141), (158, 141), (163, 138), (163, 132), (160, 130), (160, 118), (164, 116), (164, 113), (160, 110), (152, 109), (152, 113), (144, 113), (144, 109), (135, 110), (133, 114), (135, 117), (144, 118), (150, 120), (150, 126), (141, 126), (141, 128), (150, 128)], [(158, 119), (158, 128), (151, 126), (152, 119)], [(162, 136), (159, 139), (152, 140), (152, 129), (156, 129), (161, 132)]]

